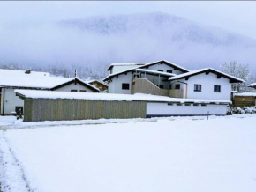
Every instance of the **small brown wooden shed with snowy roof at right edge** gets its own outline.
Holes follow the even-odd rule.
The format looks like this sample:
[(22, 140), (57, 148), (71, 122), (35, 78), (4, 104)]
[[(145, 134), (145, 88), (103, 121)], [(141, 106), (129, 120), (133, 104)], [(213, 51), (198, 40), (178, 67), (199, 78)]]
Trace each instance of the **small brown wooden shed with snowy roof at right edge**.
[(256, 106), (256, 92), (242, 92), (234, 95), (235, 107)]

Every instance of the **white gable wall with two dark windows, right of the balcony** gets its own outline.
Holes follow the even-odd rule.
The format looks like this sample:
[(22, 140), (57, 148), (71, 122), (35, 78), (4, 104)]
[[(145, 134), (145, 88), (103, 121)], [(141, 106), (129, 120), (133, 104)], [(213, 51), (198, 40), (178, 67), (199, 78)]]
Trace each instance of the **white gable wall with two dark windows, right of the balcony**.
[[(208, 99), (208, 100), (230, 100), (231, 84), (228, 78), (217, 78), (213, 73), (202, 73), (190, 77), (187, 81), (180, 80), (188, 84), (189, 99)], [(194, 92), (194, 85), (202, 85), (201, 92)], [(214, 92), (214, 85), (221, 85), (221, 92)], [(185, 98), (185, 85), (184, 85)]]

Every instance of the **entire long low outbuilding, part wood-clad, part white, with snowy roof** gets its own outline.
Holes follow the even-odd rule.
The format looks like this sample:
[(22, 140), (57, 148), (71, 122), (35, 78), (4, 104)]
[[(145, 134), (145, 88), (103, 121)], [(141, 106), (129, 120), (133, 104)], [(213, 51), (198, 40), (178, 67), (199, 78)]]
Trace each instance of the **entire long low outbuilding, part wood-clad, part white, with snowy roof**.
[(15, 90), (24, 100), (24, 122), (225, 115), (229, 100), (177, 99), (149, 94), (94, 94)]

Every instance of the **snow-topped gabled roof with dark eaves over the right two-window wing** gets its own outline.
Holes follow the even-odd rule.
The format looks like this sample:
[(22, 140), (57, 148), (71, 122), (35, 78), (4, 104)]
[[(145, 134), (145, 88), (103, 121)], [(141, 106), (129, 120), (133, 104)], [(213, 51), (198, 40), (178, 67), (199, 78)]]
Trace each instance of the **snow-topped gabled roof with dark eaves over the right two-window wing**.
[(230, 78), (230, 79), (235, 79), (236, 81), (242, 83), (242, 82), (245, 82), (243, 79), (241, 78), (237, 78), (237, 77), (234, 77), (234, 76), (230, 76), (229, 74), (227, 73), (224, 73), (220, 70), (215, 70), (213, 68), (203, 68), (203, 69), (200, 69), (200, 70), (192, 70), (190, 72), (186, 72), (186, 73), (183, 73), (183, 74), (180, 74), (180, 75), (177, 75), (175, 77), (172, 77), (172, 78), (169, 78), (169, 80), (177, 80), (177, 79), (181, 79), (181, 78), (186, 78), (186, 77), (190, 77), (190, 76), (194, 76), (194, 75), (197, 75), (197, 74), (200, 74), (202, 72), (205, 72), (209, 70), (209, 72), (216, 72), (216, 73), (219, 73), (219, 74), (222, 74), (222, 76), (224, 76), (225, 78)]

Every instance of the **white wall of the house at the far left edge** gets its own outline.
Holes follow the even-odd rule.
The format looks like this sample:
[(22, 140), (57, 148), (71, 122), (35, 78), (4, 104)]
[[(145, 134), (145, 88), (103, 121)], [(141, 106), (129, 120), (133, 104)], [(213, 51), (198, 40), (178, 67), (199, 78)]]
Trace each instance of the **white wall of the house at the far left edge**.
[(16, 96), (14, 89), (4, 88), (4, 95), (2, 97), (1, 104), (1, 114), (3, 114), (4, 106), (4, 115), (9, 115), (11, 112), (15, 112), (15, 107), (23, 107), (24, 100), (21, 100)]

